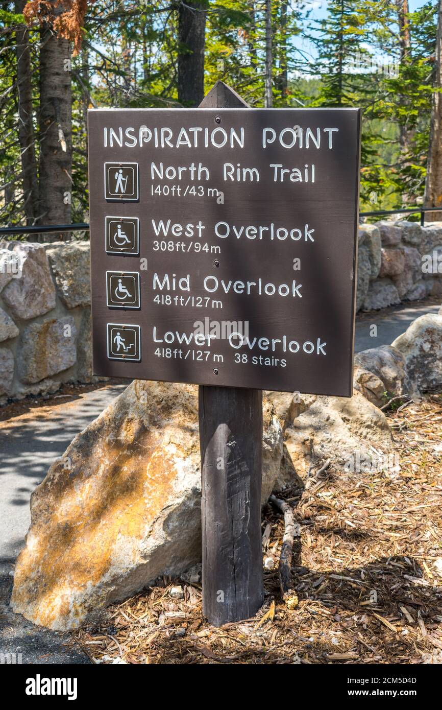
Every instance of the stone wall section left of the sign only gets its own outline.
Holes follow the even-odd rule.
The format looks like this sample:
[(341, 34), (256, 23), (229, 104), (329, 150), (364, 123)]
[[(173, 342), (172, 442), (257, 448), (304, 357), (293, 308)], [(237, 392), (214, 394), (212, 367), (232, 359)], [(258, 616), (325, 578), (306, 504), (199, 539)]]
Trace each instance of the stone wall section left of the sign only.
[(0, 403), (91, 380), (89, 242), (0, 242)]

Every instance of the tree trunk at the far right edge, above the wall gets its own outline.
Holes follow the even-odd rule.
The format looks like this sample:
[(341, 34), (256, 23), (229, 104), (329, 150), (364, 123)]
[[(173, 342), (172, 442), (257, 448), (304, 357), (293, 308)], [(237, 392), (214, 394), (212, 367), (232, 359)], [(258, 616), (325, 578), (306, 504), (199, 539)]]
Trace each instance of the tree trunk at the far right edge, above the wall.
[[(433, 106), (429, 158), (426, 167), (425, 207), (442, 207), (442, 0), (438, 0), (438, 28), (434, 58)], [(442, 221), (442, 212), (426, 212), (428, 222)]]

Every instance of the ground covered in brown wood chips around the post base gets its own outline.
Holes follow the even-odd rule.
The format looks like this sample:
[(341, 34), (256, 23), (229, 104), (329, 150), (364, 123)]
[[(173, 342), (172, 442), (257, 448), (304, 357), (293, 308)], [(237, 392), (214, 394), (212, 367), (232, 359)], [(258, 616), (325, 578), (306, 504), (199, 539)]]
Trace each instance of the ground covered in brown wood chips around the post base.
[(263, 559), (275, 567), (255, 618), (213, 628), (201, 584), (165, 577), (74, 641), (105, 664), (442, 664), (442, 395), (400, 404), (387, 412), (397, 457), (385, 471), (312, 471), (281, 496), (300, 529), (288, 602), (277, 573), (284, 520), (269, 504)]

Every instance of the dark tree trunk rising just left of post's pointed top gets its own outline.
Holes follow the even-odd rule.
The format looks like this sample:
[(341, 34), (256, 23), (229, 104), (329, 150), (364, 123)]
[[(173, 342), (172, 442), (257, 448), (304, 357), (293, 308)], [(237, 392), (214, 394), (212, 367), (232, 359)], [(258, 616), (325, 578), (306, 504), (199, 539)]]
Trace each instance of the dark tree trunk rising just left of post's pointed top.
[(178, 101), (198, 106), (204, 97), (205, 0), (189, 0), (178, 10)]

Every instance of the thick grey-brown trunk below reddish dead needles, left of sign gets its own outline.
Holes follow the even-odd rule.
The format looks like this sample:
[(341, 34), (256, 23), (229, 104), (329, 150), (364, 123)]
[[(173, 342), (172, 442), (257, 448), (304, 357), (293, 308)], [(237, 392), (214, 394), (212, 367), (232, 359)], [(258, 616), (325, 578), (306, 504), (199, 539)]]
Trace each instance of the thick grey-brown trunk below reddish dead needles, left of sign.
[[(54, 13), (61, 9), (55, 7)], [(72, 194), (72, 87), (68, 40), (40, 29), (40, 224), (69, 224)], [(53, 232), (41, 241), (68, 239)]]

